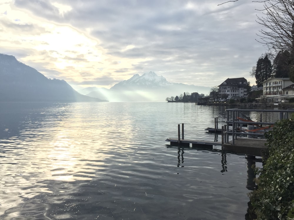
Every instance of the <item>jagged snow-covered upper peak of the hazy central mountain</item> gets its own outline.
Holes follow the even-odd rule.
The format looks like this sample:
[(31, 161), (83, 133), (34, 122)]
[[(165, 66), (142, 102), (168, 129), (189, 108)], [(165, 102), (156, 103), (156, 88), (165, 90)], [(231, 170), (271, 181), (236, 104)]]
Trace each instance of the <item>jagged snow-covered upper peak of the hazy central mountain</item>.
[(122, 87), (132, 88), (153, 88), (153, 87), (164, 87), (172, 85), (163, 76), (158, 76), (155, 72), (144, 73), (142, 76), (139, 74), (133, 75), (130, 79), (124, 80), (115, 84), (111, 89), (120, 89)]

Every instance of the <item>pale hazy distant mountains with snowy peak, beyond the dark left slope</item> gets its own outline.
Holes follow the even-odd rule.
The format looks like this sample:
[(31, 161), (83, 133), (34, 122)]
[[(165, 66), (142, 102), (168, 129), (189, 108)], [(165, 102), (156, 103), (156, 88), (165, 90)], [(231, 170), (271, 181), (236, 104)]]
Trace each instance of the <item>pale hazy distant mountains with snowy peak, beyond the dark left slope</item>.
[(154, 72), (133, 75), (130, 79), (115, 84), (110, 89), (88, 87), (79, 92), (109, 101), (165, 101), (167, 97), (184, 92), (209, 94), (210, 87), (170, 83)]

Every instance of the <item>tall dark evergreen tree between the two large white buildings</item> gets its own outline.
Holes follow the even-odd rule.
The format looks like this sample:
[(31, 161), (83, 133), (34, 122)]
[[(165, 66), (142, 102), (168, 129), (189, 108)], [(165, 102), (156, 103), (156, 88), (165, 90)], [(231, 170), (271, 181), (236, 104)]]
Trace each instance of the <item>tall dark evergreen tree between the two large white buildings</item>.
[(255, 79), (257, 87), (263, 86), (263, 81), (273, 77), (273, 67), (268, 59), (268, 55), (259, 58), (256, 64)]

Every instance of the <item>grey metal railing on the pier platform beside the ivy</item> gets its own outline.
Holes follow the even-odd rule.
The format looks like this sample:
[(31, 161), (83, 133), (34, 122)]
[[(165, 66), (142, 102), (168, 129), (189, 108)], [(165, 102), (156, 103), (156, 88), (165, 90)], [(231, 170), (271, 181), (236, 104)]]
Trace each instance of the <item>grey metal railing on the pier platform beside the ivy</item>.
[[(235, 144), (235, 139), (237, 139), (237, 136), (240, 135), (249, 135), (249, 136), (259, 136), (259, 137), (263, 137), (264, 138), (264, 134), (265, 132), (268, 131), (268, 129), (270, 128), (270, 125), (274, 125), (275, 122), (265, 122), (262, 121), (262, 114), (260, 114), (260, 121), (250, 121), (250, 119), (248, 119), (247, 116), (245, 116), (244, 114), (242, 114), (242, 112), (278, 112), (279, 114), (279, 119), (278, 120), (282, 120), (282, 119), (288, 119), (289, 114), (288, 113), (293, 113), (294, 109), (288, 109), (288, 110), (257, 110), (257, 109), (226, 109), (225, 110), (227, 112), (227, 120), (225, 121), (226, 126), (224, 128), (224, 132), (222, 132), (225, 136), (224, 141), (225, 143), (229, 143), (229, 135), (232, 135), (232, 144)], [(231, 113), (231, 117), (230, 117), (230, 113)], [(245, 120), (240, 120), (240, 118), (245, 116)], [(230, 119), (231, 118), (231, 119)], [(246, 120), (247, 118), (247, 120)], [(232, 130), (229, 129), (229, 125), (232, 125)], [(252, 126), (256, 126), (261, 128), (260, 131), (264, 131), (264, 132), (259, 132), (256, 133), (254, 131), (249, 131), (247, 133), (240, 133), (237, 131), (237, 129), (240, 127), (242, 127), (243, 124), (247, 124), (248, 125), (252, 125)], [(263, 127), (263, 125), (269, 125), (268, 127)], [(259, 129), (254, 129), (253, 130), (259, 130)]]

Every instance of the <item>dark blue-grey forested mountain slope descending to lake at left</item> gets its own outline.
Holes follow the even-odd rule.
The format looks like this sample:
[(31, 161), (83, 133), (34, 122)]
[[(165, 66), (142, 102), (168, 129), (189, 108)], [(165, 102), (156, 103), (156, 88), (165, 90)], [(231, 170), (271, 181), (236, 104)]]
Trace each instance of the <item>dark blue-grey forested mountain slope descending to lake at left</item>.
[(48, 79), (14, 56), (0, 54), (0, 101), (106, 101), (78, 93), (66, 81)]

